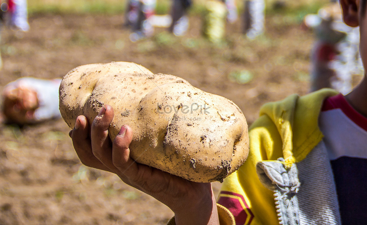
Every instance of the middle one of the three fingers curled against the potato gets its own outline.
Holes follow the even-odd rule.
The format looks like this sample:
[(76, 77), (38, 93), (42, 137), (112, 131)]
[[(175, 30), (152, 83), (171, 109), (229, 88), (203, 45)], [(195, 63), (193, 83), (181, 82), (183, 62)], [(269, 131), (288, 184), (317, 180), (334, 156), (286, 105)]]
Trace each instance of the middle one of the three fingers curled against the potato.
[(116, 173), (116, 167), (112, 163), (112, 143), (108, 136), (108, 128), (114, 116), (110, 105), (102, 107), (99, 115), (95, 117), (91, 128), (91, 146), (95, 157), (106, 167)]

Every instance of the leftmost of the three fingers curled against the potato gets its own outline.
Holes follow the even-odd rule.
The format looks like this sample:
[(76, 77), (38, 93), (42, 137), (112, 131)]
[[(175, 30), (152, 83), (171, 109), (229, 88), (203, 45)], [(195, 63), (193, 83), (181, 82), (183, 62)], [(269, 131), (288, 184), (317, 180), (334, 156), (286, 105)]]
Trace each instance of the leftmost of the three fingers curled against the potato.
[(84, 165), (111, 172), (108, 167), (93, 155), (89, 127), (88, 120), (85, 116), (77, 117), (75, 127), (69, 132), (75, 152)]

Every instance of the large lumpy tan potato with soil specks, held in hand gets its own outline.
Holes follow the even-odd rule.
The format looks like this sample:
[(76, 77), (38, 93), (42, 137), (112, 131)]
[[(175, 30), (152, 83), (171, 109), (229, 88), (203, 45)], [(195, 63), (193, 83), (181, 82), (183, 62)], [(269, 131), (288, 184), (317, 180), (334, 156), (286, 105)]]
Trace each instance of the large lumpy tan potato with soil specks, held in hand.
[(196, 182), (222, 181), (246, 160), (247, 123), (230, 100), (188, 81), (153, 74), (130, 62), (79, 66), (63, 77), (60, 112), (72, 128), (92, 121), (104, 104), (115, 110), (113, 140), (123, 124), (134, 131), (131, 158)]

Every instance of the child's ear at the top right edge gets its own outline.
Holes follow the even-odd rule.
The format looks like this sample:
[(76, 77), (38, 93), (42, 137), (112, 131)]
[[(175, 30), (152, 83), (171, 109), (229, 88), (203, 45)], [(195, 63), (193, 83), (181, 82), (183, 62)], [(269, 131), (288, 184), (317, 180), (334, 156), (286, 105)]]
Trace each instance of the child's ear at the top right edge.
[(346, 25), (356, 27), (359, 25), (359, 0), (340, 0), (343, 19)]

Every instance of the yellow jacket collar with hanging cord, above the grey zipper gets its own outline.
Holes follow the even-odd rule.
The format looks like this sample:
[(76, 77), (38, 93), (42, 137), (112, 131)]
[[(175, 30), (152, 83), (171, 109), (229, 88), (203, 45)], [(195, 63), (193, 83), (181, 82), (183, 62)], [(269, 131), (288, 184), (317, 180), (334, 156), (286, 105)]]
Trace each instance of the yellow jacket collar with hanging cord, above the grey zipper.
[(303, 160), (321, 141), (323, 134), (318, 126), (320, 110), (324, 99), (336, 94), (337, 91), (324, 88), (302, 97), (293, 94), (282, 101), (262, 106), (260, 116), (267, 115), (277, 127), (286, 163)]

